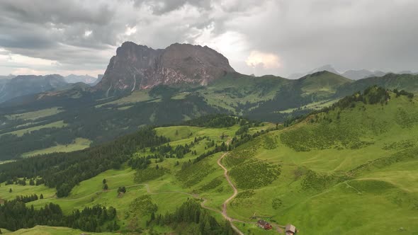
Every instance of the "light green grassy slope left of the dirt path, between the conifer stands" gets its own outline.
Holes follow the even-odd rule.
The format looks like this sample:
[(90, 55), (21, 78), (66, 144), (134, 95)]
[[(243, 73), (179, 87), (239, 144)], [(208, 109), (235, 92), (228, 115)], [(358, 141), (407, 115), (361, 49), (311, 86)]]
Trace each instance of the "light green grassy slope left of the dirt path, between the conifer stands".
[[(266, 130), (268, 127), (271, 126), (264, 124), (259, 127), (250, 127), (248, 132), (255, 133)], [(232, 190), (228, 188), (227, 183), (222, 182), (222, 169), (215, 167), (221, 153), (208, 156), (197, 164), (193, 164), (193, 167), (190, 167), (188, 171), (183, 170), (182, 166), (189, 161), (194, 161), (196, 156), (205, 151), (214, 149), (212, 142), (218, 145), (227, 141), (226, 136), (232, 138), (239, 128), (239, 125), (225, 128), (159, 127), (157, 128), (158, 134), (172, 139), (169, 143), (171, 147), (175, 148), (194, 142), (192, 151), (181, 159), (164, 159), (162, 162), (152, 160), (146, 170), (135, 171), (124, 164), (120, 169), (108, 170), (89, 180), (82, 181), (72, 189), (69, 197), (64, 198), (57, 198), (55, 189), (47, 188), (44, 185), (35, 186), (27, 183), (24, 186), (3, 186), (4, 183), (1, 183), (0, 200), (11, 200), (18, 195), (43, 194), (42, 200), (28, 202), (27, 205), (33, 205), (35, 209), (38, 209), (46, 203), (53, 202), (60, 205), (64, 214), (69, 214), (76, 209), (81, 210), (86, 206), (112, 206), (118, 210), (118, 221), (123, 230), (137, 228), (147, 231), (149, 229), (147, 220), (149, 220), (150, 214), (142, 206), (143, 203), (155, 204), (158, 208), (156, 213), (166, 214), (166, 212), (174, 212), (188, 198), (193, 198), (199, 203), (204, 202), (205, 206), (210, 207), (211, 210), (215, 210), (211, 214), (222, 222), (222, 216), (216, 211), (221, 210), (222, 201), (228, 197)], [(134, 157), (140, 158), (152, 154), (149, 148), (144, 150), (138, 151)], [(157, 175), (157, 178), (146, 180), (138, 178), (142, 175), (142, 171), (145, 171), (145, 176), (152, 176), (157, 165), (160, 169), (165, 169), (161, 175)], [(189, 176), (193, 177), (189, 178)], [(192, 178), (194, 180), (191, 180)], [(103, 179), (106, 179), (108, 190), (103, 190)], [(127, 189), (127, 192), (118, 194), (117, 189), (122, 186)], [(223, 189), (219, 190), (220, 187)], [(213, 188), (218, 188), (218, 190), (212, 190)], [(140, 214), (141, 216), (139, 216)], [(158, 232), (171, 230), (168, 227), (154, 226), (154, 231)], [(72, 230), (70, 229), (69, 232)]]

